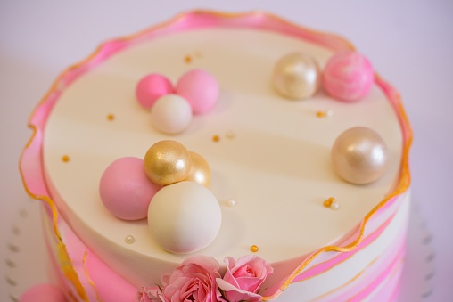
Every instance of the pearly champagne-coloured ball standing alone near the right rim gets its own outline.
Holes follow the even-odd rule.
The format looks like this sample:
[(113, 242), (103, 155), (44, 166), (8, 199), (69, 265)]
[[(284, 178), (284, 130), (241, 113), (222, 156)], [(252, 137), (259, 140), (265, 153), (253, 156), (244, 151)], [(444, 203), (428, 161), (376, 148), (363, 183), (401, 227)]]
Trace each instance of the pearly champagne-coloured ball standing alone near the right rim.
[(387, 147), (381, 135), (367, 127), (352, 127), (332, 147), (334, 169), (352, 184), (369, 184), (387, 167)]

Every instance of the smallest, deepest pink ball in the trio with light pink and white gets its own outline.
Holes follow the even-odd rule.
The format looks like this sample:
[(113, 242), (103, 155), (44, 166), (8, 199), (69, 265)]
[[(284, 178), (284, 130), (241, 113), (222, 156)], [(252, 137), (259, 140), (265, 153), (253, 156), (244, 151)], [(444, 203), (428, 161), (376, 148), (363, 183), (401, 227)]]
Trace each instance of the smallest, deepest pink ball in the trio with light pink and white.
[(142, 78), (136, 86), (136, 99), (144, 108), (151, 108), (162, 95), (173, 93), (173, 85), (161, 74), (152, 73)]

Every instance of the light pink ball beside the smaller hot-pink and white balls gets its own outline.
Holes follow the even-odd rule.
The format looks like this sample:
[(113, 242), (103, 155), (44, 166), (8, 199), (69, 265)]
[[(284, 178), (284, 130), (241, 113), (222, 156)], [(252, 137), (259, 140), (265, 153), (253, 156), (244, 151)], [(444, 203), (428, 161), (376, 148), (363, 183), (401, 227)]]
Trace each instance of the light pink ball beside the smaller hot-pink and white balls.
[(186, 72), (177, 81), (176, 91), (190, 103), (194, 114), (209, 112), (218, 101), (217, 80), (202, 69)]

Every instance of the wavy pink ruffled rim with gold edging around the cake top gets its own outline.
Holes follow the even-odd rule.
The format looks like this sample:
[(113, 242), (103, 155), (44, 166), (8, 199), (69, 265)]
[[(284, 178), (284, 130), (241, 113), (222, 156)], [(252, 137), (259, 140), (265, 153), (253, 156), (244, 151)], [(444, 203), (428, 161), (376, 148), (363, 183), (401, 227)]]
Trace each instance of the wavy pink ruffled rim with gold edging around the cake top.
[[(114, 53), (118, 53), (120, 50), (127, 48), (130, 45), (140, 43), (144, 40), (149, 40), (153, 37), (159, 37), (163, 34), (181, 32), (189, 29), (203, 29), (212, 27), (230, 27), (230, 28), (251, 28), (260, 30), (270, 30), (289, 35), (292, 37), (299, 37), (318, 45), (323, 45), (334, 51), (342, 51), (347, 49), (354, 49), (350, 43), (342, 37), (336, 37), (321, 32), (317, 32), (310, 29), (305, 29), (291, 22), (279, 19), (278, 17), (264, 13), (264, 12), (249, 12), (243, 14), (222, 14), (219, 12), (186, 12), (177, 16), (177, 18), (170, 20), (169, 22), (162, 23), (151, 29), (146, 29), (134, 36), (119, 38), (108, 43), (104, 43), (92, 53), (85, 61), (81, 61), (76, 65), (71, 66), (65, 70), (62, 75), (57, 78), (54, 82), (54, 86), (45, 95), (42, 102), (37, 106), (32, 117), (29, 119), (30, 127), (35, 130), (34, 135), (29, 141), (21, 155), (21, 177), (26, 191), (29, 195), (35, 199), (43, 199), (49, 202), (51, 209), (54, 211), (54, 203), (51, 196), (46, 188), (44, 169), (42, 167), (42, 142), (43, 142), (43, 130), (45, 122), (54, 107), (54, 103), (57, 102), (62, 89), (65, 86), (70, 85), (72, 81), (85, 74), (89, 69), (94, 68), (101, 62), (107, 60)], [(408, 149), (412, 140), (412, 132), (406, 117), (405, 111), (399, 100), (399, 94), (387, 83), (385, 83), (377, 75), (375, 77), (376, 84), (382, 87), (383, 91), (389, 97), (390, 102), (394, 106), (397, 115), (400, 120), (401, 127), (403, 129), (404, 137), (404, 154), (402, 159), (401, 176), (399, 178), (399, 184), (395, 192), (392, 192), (393, 196), (405, 192), (408, 189), (410, 183), (410, 175), (408, 172)], [(349, 239), (344, 242), (348, 242), (349, 247), (328, 247), (339, 249), (342, 251), (348, 251), (357, 249), (360, 241), (363, 240), (363, 234), (368, 222), (368, 219), (372, 216), (379, 215), (383, 207), (388, 206), (391, 203), (390, 200), (383, 200), (376, 208), (374, 208), (364, 219), (358, 229), (357, 233), (353, 233)], [(59, 220), (56, 211), (53, 212), (54, 228), (55, 233), (58, 234), (58, 227), (56, 222)], [(312, 254), (305, 258), (299, 265), (302, 270), (303, 267), (309, 265), (315, 258), (325, 254), (329, 249), (322, 250), (316, 254)], [(346, 250), (349, 249), (349, 250)], [(294, 272), (296, 273), (296, 272)], [(282, 286), (277, 290), (272, 290), (271, 296), (264, 297), (264, 299), (275, 298), (278, 294), (284, 290), (289, 283), (292, 282), (292, 278), (295, 274), (288, 276), (288, 279), (283, 283)], [(274, 288), (274, 287), (272, 287)], [(79, 289), (80, 290), (80, 289)], [(270, 292), (270, 291), (269, 291)]]

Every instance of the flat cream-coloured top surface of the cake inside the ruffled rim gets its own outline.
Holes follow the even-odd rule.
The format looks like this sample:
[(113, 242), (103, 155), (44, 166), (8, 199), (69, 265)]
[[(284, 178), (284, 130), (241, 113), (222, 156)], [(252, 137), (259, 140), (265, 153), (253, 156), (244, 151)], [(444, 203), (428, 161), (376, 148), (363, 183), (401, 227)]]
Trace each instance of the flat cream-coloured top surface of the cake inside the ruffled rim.
[[(153, 143), (172, 139), (207, 159), (210, 191), (221, 205), (220, 233), (199, 253), (222, 261), (248, 254), (256, 245), (259, 257), (273, 263), (340, 241), (399, 180), (399, 118), (376, 85), (362, 102), (350, 104), (323, 91), (301, 102), (276, 94), (272, 69), (295, 51), (309, 53), (321, 69), (334, 53), (273, 31), (213, 27), (139, 41), (89, 65), (63, 87), (45, 126), (45, 177), (62, 216), (89, 242), (180, 263), (186, 256), (161, 249), (145, 219), (112, 216), (98, 192), (112, 161), (143, 159)], [(136, 102), (136, 84), (151, 72), (176, 81), (190, 69), (205, 69), (217, 78), (218, 104), (209, 114), (195, 116), (184, 133), (163, 135)], [(323, 110), (333, 116), (319, 118)], [(389, 149), (389, 167), (373, 184), (346, 183), (331, 164), (336, 137), (358, 126), (374, 129)], [(339, 210), (323, 207), (329, 197), (338, 200)], [(235, 207), (227, 200), (235, 200)], [(135, 238), (133, 244), (125, 241), (128, 236)]]

